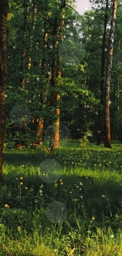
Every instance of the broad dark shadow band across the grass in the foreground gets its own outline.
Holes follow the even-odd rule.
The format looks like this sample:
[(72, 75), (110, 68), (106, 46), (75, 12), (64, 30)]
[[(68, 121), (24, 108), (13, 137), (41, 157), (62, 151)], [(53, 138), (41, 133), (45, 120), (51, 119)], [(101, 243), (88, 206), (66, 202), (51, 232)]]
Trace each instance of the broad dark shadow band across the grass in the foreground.
[[(96, 222), (101, 225), (104, 218), (113, 222), (116, 214), (120, 216), (122, 214), (122, 186), (109, 178), (103, 180), (77, 175), (62, 175), (63, 184), (61, 185), (60, 180), (58, 180), (57, 187), (54, 186), (55, 182), (45, 183), (39, 176), (35, 177), (34, 175), (23, 177), (21, 186), (19, 185), (20, 180), (16, 181), (14, 177), (11, 176), (10, 178), (10, 175), (4, 175), (3, 178), (4, 183), (0, 187), (0, 207), (1, 215), (4, 211), (2, 223), (5, 221), (5, 225), (9, 225), (9, 228), (14, 226), (15, 220), (17, 220), (16, 225), (20, 223), (27, 225), (28, 222), (27, 226), (30, 227), (33, 212), (40, 212), (41, 217), (43, 215), (43, 218), (47, 219), (45, 209), (48, 204), (55, 201), (65, 204), (68, 211), (67, 219), (68, 221), (71, 219), (71, 222), (74, 222), (74, 215), (77, 218), (80, 216), (82, 221), (94, 216)], [(39, 195), (39, 189), (43, 191), (42, 195)], [(3, 208), (5, 204), (9, 205), (8, 209)], [(15, 209), (16, 211), (19, 210), (17, 219), (15, 218), (17, 216), (16, 211), (14, 213)], [(76, 210), (75, 214), (73, 213), (74, 210)], [(24, 218), (22, 211), (24, 216), (26, 215)], [(47, 222), (46, 226), (45, 221), (42, 222), (42, 227), (45, 230)]]

